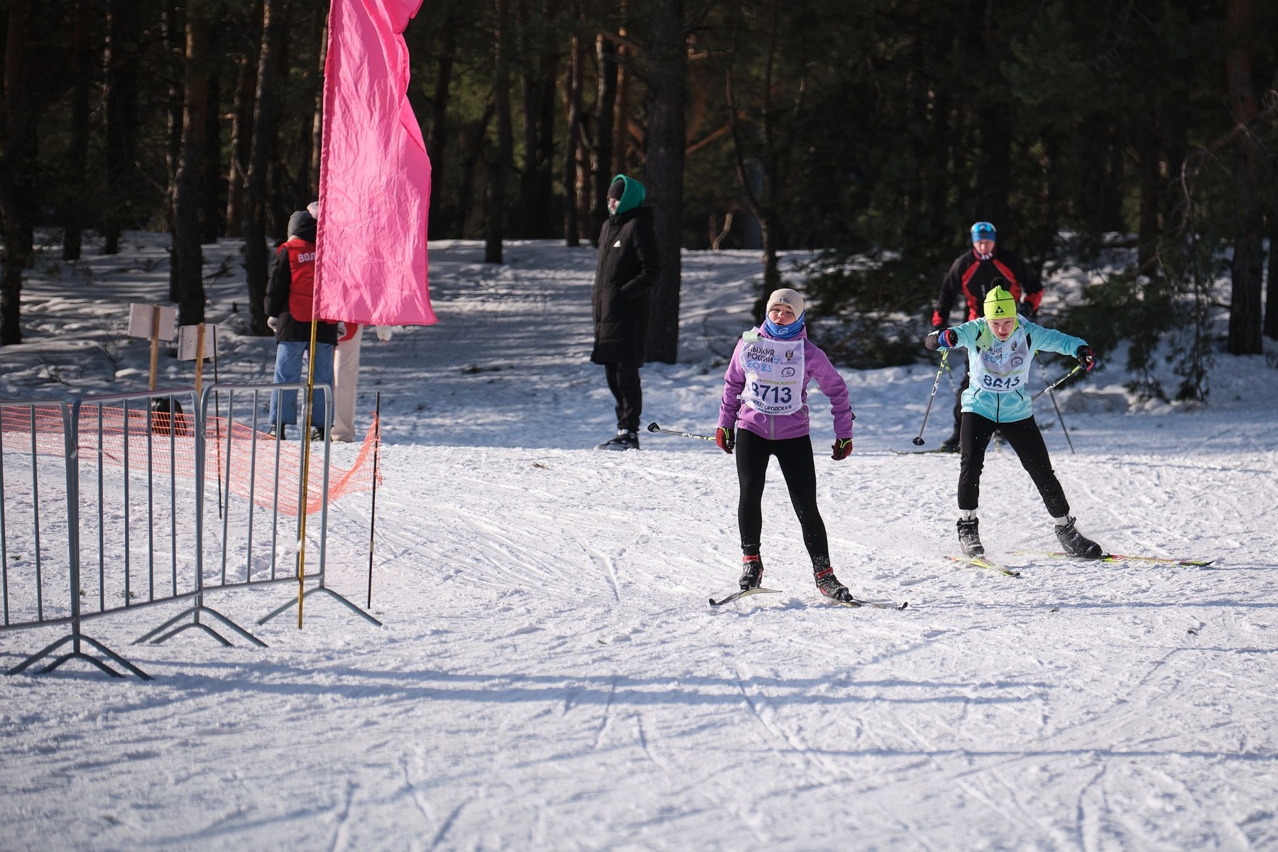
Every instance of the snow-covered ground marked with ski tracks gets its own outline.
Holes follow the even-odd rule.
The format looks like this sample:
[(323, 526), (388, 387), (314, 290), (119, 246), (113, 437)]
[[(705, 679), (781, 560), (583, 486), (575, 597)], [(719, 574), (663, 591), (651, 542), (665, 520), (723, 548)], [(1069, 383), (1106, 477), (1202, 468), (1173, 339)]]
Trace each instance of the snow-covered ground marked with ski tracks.
[[(162, 298), (167, 258), (129, 243), (37, 264), (0, 396), (144, 387), (146, 345), (120, 327), (128, 301)], [(207, 250), (219, 370), (261, 381), (273, 345), (240, 333), (236, 250)], [(923, 418), (920, 363), (843, 370), (845, 462), (813, 396), (838, 575), (909, 608), (819, 599), (773, 468), (763, 558), (785, 591), (712, 609), (737, 574), (732, 460), (647, 433), (640, 452), (590, 451), (613, 425), (587, 361), (593, 253), (481, 261), (432, 244), (438, 326), (366, 336), (385, 628), (318, 599), (302, 631), (256, 628), (267, 649), (129, 645), (164, 607), (87, 622), (156, 680), (0, 678), (0, 848), (1278, 848), (1272, 341), (1268, 359), (1217, 355), (1208, 406), (1127, 407), (1118, 369), (1071, 386), (1077, 455), (1040, 400), (1082, 531), (1210, 567), (1017, 554), (1054, 538), (1010, 451), (987, 462), (982, 531), (1022, 576), (947, 562), (957, 459), (892, 452)], [(644, 416), (708, 433), (758, 261), (689, 253), (684, 273), (680, 363), (644, 369)], [(190, 383), (189, 363), (161, 365)], [(951, 399), (942, 381), (929, 446)], [(354, 494), (330, 522), (330, 582), (357, 602), (368, 515)], [(252, 625), (289, 594), (210, 604)], [(61, 632), (0, 632), (0, 667)]]

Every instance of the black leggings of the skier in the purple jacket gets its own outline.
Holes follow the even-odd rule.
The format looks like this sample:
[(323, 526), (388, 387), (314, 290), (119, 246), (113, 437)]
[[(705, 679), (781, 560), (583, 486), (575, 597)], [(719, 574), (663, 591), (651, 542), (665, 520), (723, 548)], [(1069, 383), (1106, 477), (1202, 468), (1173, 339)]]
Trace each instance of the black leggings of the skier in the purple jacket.
[(790, 502), (803, 528), (803, 543), (813, 562), (829, 562), (829, 540), (826, 522), (817, 510), (817, 466), (812, 457), (812, 438), (785, 438), (768, 441), (749, 429), (736, 430), (736, 478), (741, 497), (736, 505), (736, 525), (741, 530), (741, 551), (759, 552), (763, 533), (763, 485), (768, 475), (768, 457), (776, 456), (781, 475), (790, 489)]

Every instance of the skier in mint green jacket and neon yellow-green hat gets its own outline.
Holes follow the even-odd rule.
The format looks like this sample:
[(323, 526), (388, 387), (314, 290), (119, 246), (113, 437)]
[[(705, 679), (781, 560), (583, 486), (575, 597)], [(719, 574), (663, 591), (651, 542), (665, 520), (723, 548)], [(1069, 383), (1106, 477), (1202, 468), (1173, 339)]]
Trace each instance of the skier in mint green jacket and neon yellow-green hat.
[(962, 393), (962, 419), (958, 445), (962, 461), (958, 473), (958, 544), (969, 557), (985, 553), (980, 543), (976, 506), (980, 501), (980, 471), (985, 448), (994, 432), (1002, 432), (1034, 480), (1056, 522), (1056, 536), (1071, 556), (1098, 559), (1100, 545), (1074, 526), (1070, 502), (1043, 443), (1030, 406), (1029, 372), (1034, 353), (1074, 355), (1088, 370), (1097, 356), (1081, 337), (1044, 328), (1016, 316), (1016, 299), (1001, 286), (985, 295), (985, 317), (961, 326), (934, 331), (927, 336), (928, 349), (966, 349), (971, 383)]

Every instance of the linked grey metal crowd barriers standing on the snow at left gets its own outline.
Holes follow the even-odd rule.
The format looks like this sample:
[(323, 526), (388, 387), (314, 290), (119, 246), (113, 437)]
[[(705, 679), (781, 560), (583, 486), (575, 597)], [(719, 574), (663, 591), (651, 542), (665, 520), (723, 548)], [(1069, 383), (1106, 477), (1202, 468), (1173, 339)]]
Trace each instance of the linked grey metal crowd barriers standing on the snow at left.
[[(304, 383), (212, 384), (198, 400), (194, 390), (181, 390), (86, 397), (74, 404), (0, 402), (0, 630), (72, 623), (70, 635), (27, 658), (9, 674), (72, 641), (70, 654), (40, 671), (83, 658), (119, 674), (82, 653), (81, 644), (87, 643), (147, 677), (84, 636), (81, 621), (174, 600), (188, 600), (190, 605), (134, 644), (158, 644), (197, 628), (230, 645), (202, 621), (207, 616), (265, 646), (208, 607), (204, 594), (299, 584), (303, 576), (317, 585), (302, 589), (296, 599), (277, 607), (259, 625), (314, 593), (380, 625), (325, 585), (331, 448), (327, 430), (323, 443), (316, 445), (323, 447), (318, 462), (313, 464), (309, 448), (303, 451), (303, 464), (294, 476), (296, 451), (285, 450), (285, 442), (258, 429), (265, 419), (259, 418), (262, 402), (271, 392), (304, 388)], [(316, 386), (314, 392), (323, 397), (322, 422), (330, 423), (331, 391)], [(225, 418), (220, 415), (224, 400)], [(235, 420), (240, 414), (236, 407), (247, 411), (248, 424)], [(211, 502), (206, 492), (215, 484), (219, 524), (210, 530), (206, 513)], [(307, 544), (299, 535), (307, 513), (314, 511), (320, 512), (318, 570), (302, 575), (309, 559), (304, 559)]]

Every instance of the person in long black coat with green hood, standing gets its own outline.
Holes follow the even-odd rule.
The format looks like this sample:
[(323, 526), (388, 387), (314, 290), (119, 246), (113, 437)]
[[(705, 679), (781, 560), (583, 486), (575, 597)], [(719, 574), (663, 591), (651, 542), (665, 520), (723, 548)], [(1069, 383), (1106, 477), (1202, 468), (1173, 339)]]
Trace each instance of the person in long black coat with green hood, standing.
[(608, 390), (617, 401), (617, 434), (597, 450), (638, 450), (643, 367), (652, 289), (661, 275), (652, 207), (634, 178), (617, 175), (608, 188), (608, 218), (599, 230), (599, 264), (590, 303), (594, 308), (594, 350)]

